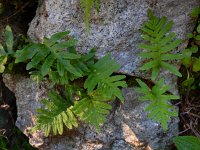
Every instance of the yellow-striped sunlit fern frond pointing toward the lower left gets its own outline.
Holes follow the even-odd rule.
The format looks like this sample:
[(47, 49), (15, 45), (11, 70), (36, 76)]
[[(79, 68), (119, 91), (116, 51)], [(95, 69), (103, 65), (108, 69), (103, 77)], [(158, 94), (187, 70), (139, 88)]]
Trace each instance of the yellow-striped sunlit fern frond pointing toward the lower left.
[(56, 92), (48, 94), (49, 100), (43, 99), (41, 103), (45, 105), (45, 109), (38, 109), (37, 124), (32, 128), (32, 132), (43, 130), (45, 136), (52, 131), (54, 135), (62, 134), (63, 128), (69, 129), (78, 127), (78, 123), (74, 113), (72, 112), (71, 101), (67, 101)]

